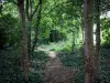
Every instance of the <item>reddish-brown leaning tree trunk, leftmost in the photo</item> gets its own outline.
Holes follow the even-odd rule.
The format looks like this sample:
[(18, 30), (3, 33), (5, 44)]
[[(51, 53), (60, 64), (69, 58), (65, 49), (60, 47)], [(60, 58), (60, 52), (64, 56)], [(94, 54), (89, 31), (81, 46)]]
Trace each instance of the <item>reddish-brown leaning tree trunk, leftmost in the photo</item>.
[(24, 13), (24, 0), (18, 0), (18, 7), (22, 19), (22, 34), (23, 34), (23, 55), (22, 55), (22, 68), (24, 71), (25, 83), (29, 83), (29, 54), (28, 54), (28, 34), (25, 25), (25, 13)]

